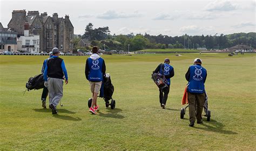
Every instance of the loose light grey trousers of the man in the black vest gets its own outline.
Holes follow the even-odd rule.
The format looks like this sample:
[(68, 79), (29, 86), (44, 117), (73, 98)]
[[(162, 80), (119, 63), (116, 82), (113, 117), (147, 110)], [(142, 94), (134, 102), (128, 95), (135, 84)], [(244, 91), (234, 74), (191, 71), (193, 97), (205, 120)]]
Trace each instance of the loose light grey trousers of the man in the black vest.
[(49, 104), (58, 105), (63, 96), (63, 80), (60, 78), (48, 78)]

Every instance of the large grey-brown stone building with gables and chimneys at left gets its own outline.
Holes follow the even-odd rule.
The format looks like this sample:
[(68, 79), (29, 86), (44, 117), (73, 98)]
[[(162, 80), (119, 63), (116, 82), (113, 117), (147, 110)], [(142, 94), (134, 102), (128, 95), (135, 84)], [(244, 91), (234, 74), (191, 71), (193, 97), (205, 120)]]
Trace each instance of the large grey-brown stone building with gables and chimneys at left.
[(40, 37), (40, 52), (50, 52), (53, 47), (58, 47), (62, 52), (72, 52), (74, 27), (66, 15), (65, 18), (58, 17), (53, 13), (52, 17), (47, 12), (14, 10), (8, 28), (20, 35), (24, 35), (24, 24), (29, 23), (29, 32), (38, 34)]

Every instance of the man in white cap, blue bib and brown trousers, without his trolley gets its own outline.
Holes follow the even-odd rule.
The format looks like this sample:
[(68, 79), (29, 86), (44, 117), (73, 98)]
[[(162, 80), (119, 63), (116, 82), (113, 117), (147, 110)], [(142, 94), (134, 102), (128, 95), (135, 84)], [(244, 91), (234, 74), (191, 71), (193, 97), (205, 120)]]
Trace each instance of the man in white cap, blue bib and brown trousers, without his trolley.
[[(202, 124), (202, 112), (205, 100), (205, 81), (207, 71), (201, 66), (202, 61), (199, 58), (194, 59), (194, 65), (190, 66), (185, 75), (188, 81), (188, 110), (190, 114), (190, 125), (194, 126), (197, 118), (197, 124)], [(197, 106), (197, 109), (196, 109)], [(196, 113), (197, 110), (197, 113)]]

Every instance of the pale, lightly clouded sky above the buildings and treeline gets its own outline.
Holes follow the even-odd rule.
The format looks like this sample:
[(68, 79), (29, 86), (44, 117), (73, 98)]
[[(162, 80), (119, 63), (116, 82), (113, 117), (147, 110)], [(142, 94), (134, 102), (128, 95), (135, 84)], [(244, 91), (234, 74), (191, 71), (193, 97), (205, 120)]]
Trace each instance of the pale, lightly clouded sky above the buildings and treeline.
[(219, 35), (256, 32), (255, 0), (214, 1), (14, 1), (0, 0), (0, 22), (7, 27), (12, 10), (69, 15), (75, 34), (87, 24), (108, 26), (111, 34)]

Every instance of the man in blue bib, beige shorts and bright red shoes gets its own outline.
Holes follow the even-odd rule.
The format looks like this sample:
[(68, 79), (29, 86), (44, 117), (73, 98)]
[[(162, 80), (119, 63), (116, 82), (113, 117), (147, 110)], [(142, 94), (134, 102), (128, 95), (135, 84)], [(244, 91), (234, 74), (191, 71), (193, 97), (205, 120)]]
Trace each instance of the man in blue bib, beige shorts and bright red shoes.
[(97, 105), (97, 96), (102, 86), (103, 77), (105, 76), (106, 65), (102, 57), (98, 55), (98, 47), (94, 46), (92, 48), (92, 55), (87, 58), (85, 64), (85, 77), (90, 83), (90, 88), (92, 92), (92, 104), (89, 112), (96, 114), (99, 110), (99, 105)]

